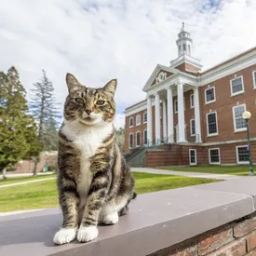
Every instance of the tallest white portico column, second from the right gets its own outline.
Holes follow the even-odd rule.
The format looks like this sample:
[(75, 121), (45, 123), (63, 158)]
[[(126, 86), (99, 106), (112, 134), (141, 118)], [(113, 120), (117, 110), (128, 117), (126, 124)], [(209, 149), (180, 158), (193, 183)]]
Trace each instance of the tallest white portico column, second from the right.
[(183, 95), (183, 84), (177, 85), (178, 91), (178, 123), (179, 123), (179, 141), (186, 142), (185, 140), (185, 116), (184, 116), (184, 95)]

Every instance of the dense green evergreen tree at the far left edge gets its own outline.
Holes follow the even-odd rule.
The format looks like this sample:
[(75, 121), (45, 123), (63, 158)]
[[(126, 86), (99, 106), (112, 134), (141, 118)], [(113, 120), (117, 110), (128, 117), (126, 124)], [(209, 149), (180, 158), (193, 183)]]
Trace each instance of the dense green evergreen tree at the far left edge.
[(28, 115), (26, 91), (20, 83), (17, 70), (11, 67), (7, 74), (0, 72), (0, 169), (20, 159), (38, 154), (34, 119)]

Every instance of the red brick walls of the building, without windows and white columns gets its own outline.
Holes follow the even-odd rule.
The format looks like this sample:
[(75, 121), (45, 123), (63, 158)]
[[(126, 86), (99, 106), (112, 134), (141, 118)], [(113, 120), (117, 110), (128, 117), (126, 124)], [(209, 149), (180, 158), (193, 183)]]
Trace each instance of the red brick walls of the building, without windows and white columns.
[[(251, 55), (251, 53), (256, 52), (256, 47), (254, 49), (249, 49), (248, 52), (238, 55), (229, 61), (223, 62), (221, 65), (216, 66), (216, 69), (220, 69), (222, 65), (227, 65), (231, 61), (236, 61), (238, 58), (245, 58)], [(249, 58), (249, 57), (248, 57)], [(199, 76), (205, 74), (212, 76), (215, 75), (216, 79), (209, 79), (209, 83), (198, 83), (198, 93), (199, 93), (199, 111), (200, 111), (200, 128), (201, 128), (201, 140), (202, 143), (195, 142), (195, 136), (191, 136), (191, 120), (195, 118), (195, 109), (191, 107), (191, 94), (194, 93), (193, 88), (187, 87), (184, 89), (184, 123), (185, 123), (185, 136), (188, 141), (187, 144), (182, 143), (182, 145), (174, 143), (171, 145), (164, 146), (162, 151), (150, 150), (146, 153), (146, 166), (175, 166), (175, 165), (189, 165), (189, 150), (196, 149), (196, 164), (209, 164), (209, 148), (218, 148), (219, 151), (219, 164), (241, 164), (242, 161), (237, 160), (238, 155), (243, 155), (242, 151), (245, 149), (236, 149), (236, 146), (247, 146), (247, 131), (246, 128), (235, 128), (239, 127), (239, 122), (241, 120), (235, 121), (235, 111), (239, 112), (241, 110), (246, 110), (251, 113), (251, 118), (249, 120), (250, 137), (252, 138), (251, 151), (252, 160), (256, 162), (256, 128), (254, 124), (256, 123), (256, 58), (254, 61), (250, 61), (249, 65), (241, 69), (235, 68), (234, 72), (229, 72), (228, 69), (232, 70), (234, 66), (239, 65), (239, 63), (234, 63), (233, 66), (227, 67), (225, 75), (214, 74), (214, 69), (200, 74)], [(192, 68), (191, 64), (183, 63), (177, 66), (176, 69), (185, 71), (197, 71)], [(219, 72), (216, 70), (216, 73)], [(255, 72), (255, 74), (254, 74)], [(191, 75), (191, 74), (190, 74)], [(195, 75), (195, 77), (199, 77)], [(202, 76), (202, 79), (205, 76)], [(240, 77), (240, 78), (239, 78)], [(198, 78), (197, 81), (200, 81)], [(241, 93), (236, 93), (236, 83), (233, 88), (231, 87), (231, 81), (235, 82), (237, 80), (242, 81), (243, 91)], [(157, 85), (155, 85), (156, 87)], [(206, 90), (213, 88), (214, 101), (206, 102)], [(233, 94), (232, 95), (232, 91)], [(177, 95), (174, 94), (173, 97), (173, 137), (176, 136), (176, 126), (178, 124), (178, 113), (175, 112), (175, 103), (177, 100)], [(147, 124), (143, 122), (143, 114), (147, 112), (146, 101), (141, 101), (138, 103), (140, 106), (140, 111), (136, 112), (136, 105), (129, 107), (126, 110), (126, 147), (125, 151), (129, 152), (129, 134), (133, 135), (132, 148), (137, 146), (143, 146), (143, 131), (147, 128)], [(240, 106), (239, 108), (237, 106)], [(162, 105), (160, 108), (161, 116), (163, 116)], [(131, 114), (129, 114), (131, 113)], [(217, 116), (217, 132), (215, 135), (209, 135), (208, 129), (208, 115), (216, 113)], [(141, 115), (141, 125), (136, 126), (136, 115)], [(133, 118), (134, 125), (132, 128), (129, 127), (129, 119)], [(237, 118), (237, 116), (236, 116)], [(153, 141), (155, 141), (155, 106), (152, 107), (152, 122), (153, 122)], [(237, 123), (236, 123), (237, 122)], [(160, 119), (160, 129), (161, 137), (163, 134), (163, 118)], [(136, 132), (140, 132), (141, 141), (140, 145), (136, 144)], [(192, 142), (192, 143), (191, 143)], [(239, 151), (239, 154), (237, 154)], [(216, 152), (215, 152), (216, 153)], [(214, 153), (214, 154), (215, 154)], [(211, 151), (211, 154), (212, 151)], [(213, 154), (213, 155), (214, 155)], [(212, 156), (214, 157), (214, 156)], [(240, 158), (242, 158), (241, 156)]]

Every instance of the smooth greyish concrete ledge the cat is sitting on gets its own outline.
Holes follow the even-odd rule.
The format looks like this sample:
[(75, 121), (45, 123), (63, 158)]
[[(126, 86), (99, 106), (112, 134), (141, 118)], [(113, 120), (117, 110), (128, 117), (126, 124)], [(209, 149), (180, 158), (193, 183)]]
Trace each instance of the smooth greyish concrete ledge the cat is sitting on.
[(253, 213), (254, 195), (254, 177), (139, 195), (127, 216), (101, 226), (88, 244), (53, 244), (60, 209), (4, 216), (0, 255), (144, 256)]

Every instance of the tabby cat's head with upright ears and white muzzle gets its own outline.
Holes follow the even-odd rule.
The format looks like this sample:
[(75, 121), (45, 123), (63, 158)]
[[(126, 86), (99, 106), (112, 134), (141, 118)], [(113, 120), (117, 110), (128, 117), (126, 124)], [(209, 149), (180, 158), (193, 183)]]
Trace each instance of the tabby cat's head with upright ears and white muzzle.
[(103, 88), (87, 88), (73, 74), (66, 74), (66, 83), (69, 95), (64, 106), (65, 120), (76, 120), (88, 126), (113, 122), (116, 79)]

